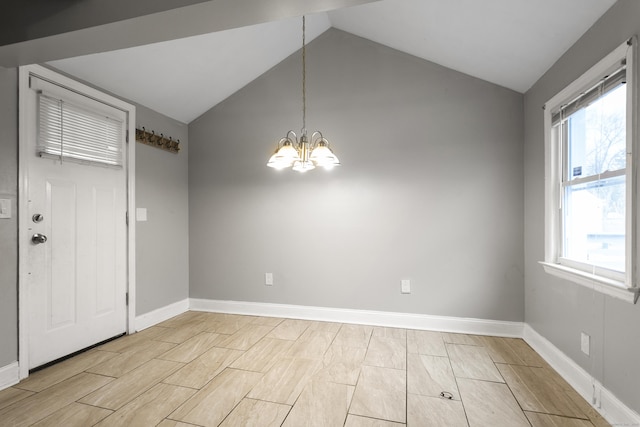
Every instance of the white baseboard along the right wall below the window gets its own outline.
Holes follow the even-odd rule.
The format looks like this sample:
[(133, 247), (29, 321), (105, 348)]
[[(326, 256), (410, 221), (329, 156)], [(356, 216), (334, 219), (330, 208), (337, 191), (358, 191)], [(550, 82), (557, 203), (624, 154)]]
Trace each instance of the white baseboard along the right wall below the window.
[(524, 340), (611, 424), (640, 426), (640, 415), (622, 403), (549, 340), (525, 324)]

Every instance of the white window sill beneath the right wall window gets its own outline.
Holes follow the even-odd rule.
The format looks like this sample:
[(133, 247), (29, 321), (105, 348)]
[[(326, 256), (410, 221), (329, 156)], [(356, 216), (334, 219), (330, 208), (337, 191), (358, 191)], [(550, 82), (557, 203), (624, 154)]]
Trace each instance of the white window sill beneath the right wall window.
[(640, 288), (627, 288), (623, 282), (607, 279), (601, 276), (595, 276), (560, 264), (542, 261), (540, 261), (540, 264), (544, 268), (545, 272), (553, 276), (569, 280), (573, 283), (577, 283), (578, 285), (585, 286), (589, 289), (593, 289), (594, 291), (621, 299), (631, 304), (635, 304), (638, 301)]

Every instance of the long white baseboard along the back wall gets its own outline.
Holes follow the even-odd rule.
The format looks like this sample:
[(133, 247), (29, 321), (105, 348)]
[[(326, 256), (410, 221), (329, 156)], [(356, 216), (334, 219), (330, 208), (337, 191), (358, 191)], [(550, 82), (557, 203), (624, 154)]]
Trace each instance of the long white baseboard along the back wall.
[(430, 316), (425, 314), (386, 311), (350, 310), (343, 308), (269, 304), (242, 301), (220, 301), (191, 298), (189, 307), (195, 311), (247, 314), (253, 316), (287, 317), (327, 322), (357, 323), (406, 329), (459, 332), (477, 335), (522, 337), (522, 322)]

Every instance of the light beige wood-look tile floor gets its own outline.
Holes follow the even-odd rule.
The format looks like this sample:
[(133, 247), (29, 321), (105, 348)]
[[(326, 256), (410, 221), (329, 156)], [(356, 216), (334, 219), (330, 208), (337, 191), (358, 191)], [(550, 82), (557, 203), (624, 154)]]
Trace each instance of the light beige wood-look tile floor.
[(0, 391), (0, 426), (94, 425), (608, 426), (520, 339), (202, 312)]

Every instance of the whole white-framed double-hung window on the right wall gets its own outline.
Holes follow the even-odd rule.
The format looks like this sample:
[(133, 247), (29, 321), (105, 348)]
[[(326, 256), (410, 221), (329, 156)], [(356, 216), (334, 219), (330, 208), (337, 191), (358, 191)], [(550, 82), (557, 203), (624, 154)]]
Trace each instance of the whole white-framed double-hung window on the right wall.
[(545, 105), (548, 273), (635, 301), (631, 39)]

